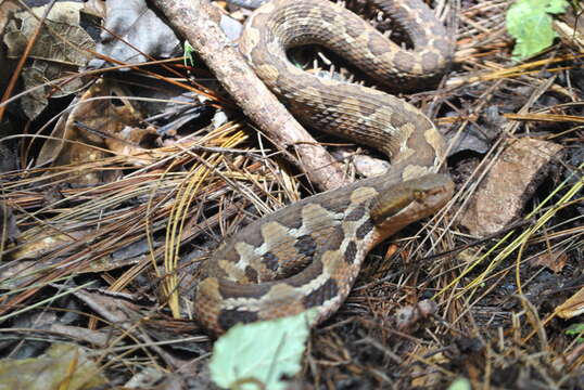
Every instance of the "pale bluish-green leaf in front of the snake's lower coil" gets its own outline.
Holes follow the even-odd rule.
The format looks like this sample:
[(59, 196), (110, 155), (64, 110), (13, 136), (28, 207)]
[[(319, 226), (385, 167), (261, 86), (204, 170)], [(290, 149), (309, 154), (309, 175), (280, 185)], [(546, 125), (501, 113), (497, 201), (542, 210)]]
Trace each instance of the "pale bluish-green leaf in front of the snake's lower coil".
[(213, 346), (211, 377), (221, 388), (284, 389), (280, 378), (301, 368), (310, 324), (317, 312), (238, 324)]

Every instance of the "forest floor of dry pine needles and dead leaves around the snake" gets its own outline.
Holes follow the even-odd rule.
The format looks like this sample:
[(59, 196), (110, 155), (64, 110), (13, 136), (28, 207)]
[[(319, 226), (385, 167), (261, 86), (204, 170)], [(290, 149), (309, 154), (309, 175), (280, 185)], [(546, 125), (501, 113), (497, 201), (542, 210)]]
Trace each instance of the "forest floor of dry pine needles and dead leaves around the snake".
[[(211, 46), (189, 62), (168, 12), (175, 32), (145, 3), (107, 3), (58, 2), (43, 29), (43, 10), (0, 4), (0, 389), (216, 386), (216, 338), (193, 321), (201, 264), (223, 237), (329, 185), (299, 168), (321, 154), (347, 182), (385, 167), (318, 132), (313, 160), (283, 147), (296, 135), (242, 114), (229, 72), (205, 66)], [(446, 140), (455, 196), (369, 253), (288, 388), (584, 389), (584, 20), (569, 4), (553, 44), (519, 61), (509, 3), (432, 4), (452, 65), (398, 96)], [(363, 2), (346, 6), (383, 28)], [(252, 13), (212, 8), (228, 37)], [(363, 78), (327, 51), (295, 55)]]

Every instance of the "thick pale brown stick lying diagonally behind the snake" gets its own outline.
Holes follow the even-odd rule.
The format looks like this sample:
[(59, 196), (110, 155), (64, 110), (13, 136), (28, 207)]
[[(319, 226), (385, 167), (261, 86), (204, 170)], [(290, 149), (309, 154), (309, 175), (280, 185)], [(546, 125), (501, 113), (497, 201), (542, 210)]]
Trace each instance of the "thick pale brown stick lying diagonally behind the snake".
[(317, 145), (227, 40), (217, 25), (221, 17), (217, 9), (207, 0), (153, 2), (166, 15), (169, 23), (187, 37), (243, 113), (279, 147), (293, 148), (293, 153), (284, 155), (305, 171), (313, 183), (322, 190), (347, 183), (332, 156)]

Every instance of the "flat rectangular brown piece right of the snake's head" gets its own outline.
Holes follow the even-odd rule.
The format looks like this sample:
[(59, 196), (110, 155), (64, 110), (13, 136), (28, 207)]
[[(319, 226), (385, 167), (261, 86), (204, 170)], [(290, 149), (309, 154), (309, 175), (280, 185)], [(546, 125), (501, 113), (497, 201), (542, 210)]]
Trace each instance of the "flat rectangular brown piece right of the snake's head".
[(496, 233), (517, 219), (562, 147), (523, 138), (510, 141), (479, 186), (460, 223), (477, 236)]

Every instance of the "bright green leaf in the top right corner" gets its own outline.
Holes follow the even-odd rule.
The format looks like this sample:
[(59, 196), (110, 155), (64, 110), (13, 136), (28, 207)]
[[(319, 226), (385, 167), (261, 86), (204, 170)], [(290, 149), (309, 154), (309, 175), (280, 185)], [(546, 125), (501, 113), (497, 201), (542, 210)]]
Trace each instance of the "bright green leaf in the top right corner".
[(516, 39), (513, 60), (532, 56), (556, 38), (551, 15), (562, 13), (566, 0), (519, 0), (507, 11), (507, 30)]

